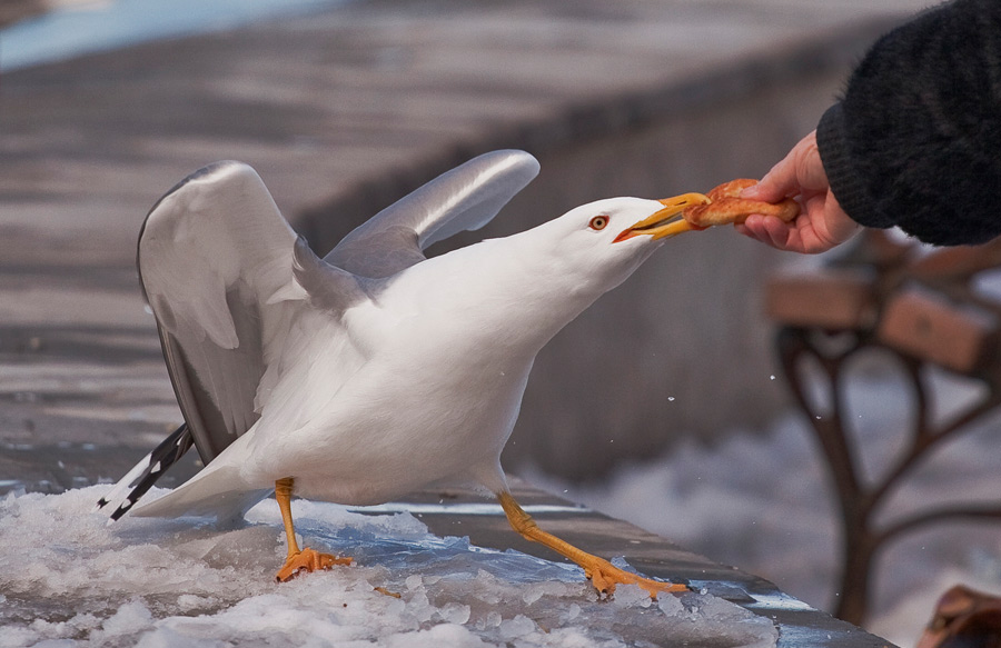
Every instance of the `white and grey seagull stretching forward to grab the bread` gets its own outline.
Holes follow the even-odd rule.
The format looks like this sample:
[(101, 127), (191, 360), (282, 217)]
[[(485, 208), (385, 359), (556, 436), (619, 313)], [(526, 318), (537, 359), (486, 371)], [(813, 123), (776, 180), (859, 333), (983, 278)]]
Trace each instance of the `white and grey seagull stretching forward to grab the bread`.
[[(101, 498), (111, 518), (236, 521), (272, 492), (288, 557), (277, 574), (350, 558), (300, 549), (290, 499), (376, 505), (443, 482), (494, 494), (512, 527), (583, 567), (601, 592), (685, 586), (644, 578), (543, 531), (500, 468), (536, 353), (686, 229), (708, 199), (613, 198), (505, 238), (427, 258), (476, 230), (538, 172), (494, 151), (444, 173), (351, 231), (326, 257), (283, 218), (257, 172), (224, 161), (188, 176), (139, 235), (185, 422)], [(133, 506), (195, 446), (205, 465)]]

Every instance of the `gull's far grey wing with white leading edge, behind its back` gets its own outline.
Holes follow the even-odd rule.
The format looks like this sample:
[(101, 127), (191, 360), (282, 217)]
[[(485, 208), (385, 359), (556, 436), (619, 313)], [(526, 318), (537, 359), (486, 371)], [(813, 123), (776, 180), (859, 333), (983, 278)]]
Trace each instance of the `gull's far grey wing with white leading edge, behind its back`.
[(438, 176), (353, 230), (325, 261), (374, 279), (425, 259), (424, 250), (490, 221), (538, 175), (525, 151), (493, 151)]

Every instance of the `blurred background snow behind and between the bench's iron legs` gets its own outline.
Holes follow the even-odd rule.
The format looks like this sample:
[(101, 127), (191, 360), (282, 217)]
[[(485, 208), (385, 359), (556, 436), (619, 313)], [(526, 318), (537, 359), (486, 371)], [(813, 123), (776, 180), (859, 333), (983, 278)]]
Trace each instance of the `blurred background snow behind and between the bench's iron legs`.
[[(894, 458), (910, 430), (908, 392), (892, 363), (881, 360), (862, 359), (848, 389), (870, 477)], [(936, 418), (982, 393), (942, 373), (930, 378)], [(993, 416), (938, 448), (880, 519), (949, 501), (1001, 502), (999, 428), (1001, 416)], [(714, 447), (687, 441), (660, 460), (623, 467), (598, 486), (525, 477), (830, 610), (840, 548), (825, 470), (806, 421), (790, 412), (765, 433), (736, 432)], [(879, 558), (875, 575), (866, 629), (913, 646), (950, 586), (1001, 594), (1001, 521), (943, 524), (905, 536)]]

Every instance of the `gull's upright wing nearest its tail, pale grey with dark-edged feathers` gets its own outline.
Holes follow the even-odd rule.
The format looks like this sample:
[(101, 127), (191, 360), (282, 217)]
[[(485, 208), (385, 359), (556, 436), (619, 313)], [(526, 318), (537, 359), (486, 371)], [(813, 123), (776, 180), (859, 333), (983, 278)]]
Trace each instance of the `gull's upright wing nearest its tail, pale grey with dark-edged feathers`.
[(259, 418), (269, 338), (301, 298), (296, 233), (250, 167), (196, 171), (146, 217), (139, 276), (177, 400), (205, 462)]

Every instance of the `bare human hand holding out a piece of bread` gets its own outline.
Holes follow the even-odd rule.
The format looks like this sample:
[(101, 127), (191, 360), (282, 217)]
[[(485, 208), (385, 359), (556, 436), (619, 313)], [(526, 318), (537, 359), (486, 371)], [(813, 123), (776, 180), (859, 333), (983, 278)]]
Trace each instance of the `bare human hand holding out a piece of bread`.
[(787, 156), (765, 173), (761, 182), (741, 192), (741, 198), (777, 202), (795, 198), (802, 212), (791, 222), (752, 215), (739, 232), (773, 248), (803, 255), (825, 252), (849, 240), (862, 226), (838, 203), (816, 149), (816, 131), (804, 137)]

